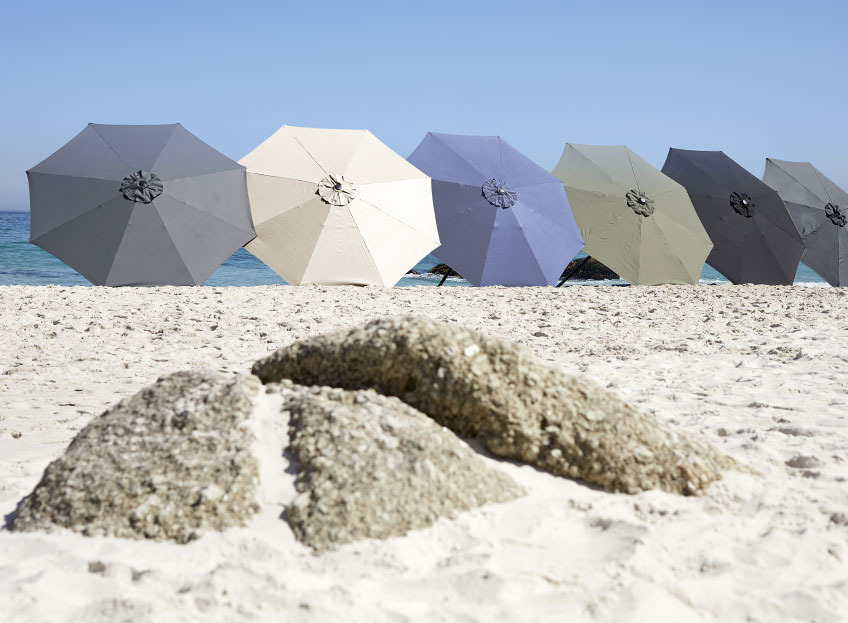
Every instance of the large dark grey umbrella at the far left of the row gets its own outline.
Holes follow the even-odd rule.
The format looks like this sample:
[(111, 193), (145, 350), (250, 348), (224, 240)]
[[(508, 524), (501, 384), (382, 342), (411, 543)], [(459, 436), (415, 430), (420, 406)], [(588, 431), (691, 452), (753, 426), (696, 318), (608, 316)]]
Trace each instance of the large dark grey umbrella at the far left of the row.
[(95, 285), (199, 285), (253, 238), (244, 168), (180, 124), (89, 124), (27, 171), (30, 241)]

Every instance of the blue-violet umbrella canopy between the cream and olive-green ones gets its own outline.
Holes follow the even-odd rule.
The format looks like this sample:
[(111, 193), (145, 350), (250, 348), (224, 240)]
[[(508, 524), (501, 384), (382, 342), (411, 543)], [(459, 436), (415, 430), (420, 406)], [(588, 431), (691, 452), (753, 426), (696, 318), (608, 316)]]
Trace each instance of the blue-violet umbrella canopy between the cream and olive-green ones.
[(474, 285), (552, 285), (583, 246), (559, 180), (498, 136), (430, 132), (409, 161), (433, 178), (433, 254)]

